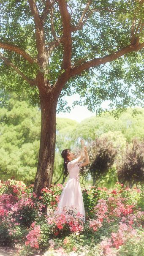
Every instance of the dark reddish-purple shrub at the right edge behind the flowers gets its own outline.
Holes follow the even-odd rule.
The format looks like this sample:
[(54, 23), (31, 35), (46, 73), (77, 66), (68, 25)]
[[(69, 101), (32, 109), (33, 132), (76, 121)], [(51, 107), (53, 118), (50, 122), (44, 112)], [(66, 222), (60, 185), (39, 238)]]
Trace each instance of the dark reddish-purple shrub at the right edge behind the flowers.
[(122, 164), (117, 169), (119, 181), (123, 184), (129, 182), (130, 188), (144, 182), (144, 141), (134, 139), (132, 145), (127, 144)]

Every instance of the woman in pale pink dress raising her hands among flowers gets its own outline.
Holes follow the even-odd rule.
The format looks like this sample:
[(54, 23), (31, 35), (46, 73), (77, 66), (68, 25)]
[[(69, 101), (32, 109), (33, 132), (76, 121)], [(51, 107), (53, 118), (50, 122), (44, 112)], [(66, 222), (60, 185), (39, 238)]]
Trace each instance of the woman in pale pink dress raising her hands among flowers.
[[(85, 166), (90, 163), (89, 156), (87, 153), (87, 147), (84, 146), (84, 141), (81, 139), (81, 155), (75, 158), (75, 154), (70, 149), (65, 149), (62, 151), (61, 155), (64, 159), (64, 173), (66, 176), (69, 174), (69, 179), (65, 185), (65, 188), (63, 188), (62, 193), (60, 195), (60, 202), (57, 205), (57, 210), (54, 212), (54, 214), (61, 214), (63, 211), (63, 207), (68, 206), (74, 206), (77, 208), (77, 212), (80, 212), (80, 214), (83, 215), (83, 220), (85, 221), (85, 211), (84, 211), (84, 202), (82, 197), (82, 190), (79, 183), (79, 167)], [(80, 163), (84, 157), (85, 153), (85, 162)]]

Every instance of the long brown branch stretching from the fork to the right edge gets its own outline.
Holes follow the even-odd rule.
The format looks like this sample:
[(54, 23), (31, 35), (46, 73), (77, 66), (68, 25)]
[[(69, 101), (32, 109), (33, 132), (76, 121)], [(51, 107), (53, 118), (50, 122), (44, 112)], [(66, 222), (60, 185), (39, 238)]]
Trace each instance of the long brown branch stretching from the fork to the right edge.
[(121, 50), (114, 52), (113, 54), (107, 55), (105, 57), (100, 57), (100, 58), (96, 58), (96, 59), (93, 59), (90, 61), (86, 61), (78, 67), (71, 68), (69, 78), (72, 76), (79, 75), (79, 74), (81, 74), (82, 71), (88, 70), (91, 67), (95, 67), (95, 66), (110, 62), (112, 60), (116, 60), (119, 57), (121, 57), (122, 55), (127, 54), (128, 52), (139, 51), (143, 47), (144, 47), (144, 43), (136, 44), (136, 45), (129, 45), (129, 46), (126, 46), (126, 47), (122, 48)]

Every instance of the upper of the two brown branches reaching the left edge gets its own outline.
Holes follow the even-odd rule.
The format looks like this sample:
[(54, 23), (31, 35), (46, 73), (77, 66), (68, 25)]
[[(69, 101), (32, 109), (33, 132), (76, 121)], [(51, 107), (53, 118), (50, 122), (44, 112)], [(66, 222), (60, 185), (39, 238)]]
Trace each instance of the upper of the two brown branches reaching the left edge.
[(13, 45), (13, 44), (6, 44), (6, 43), (2, 43), (0, 42), (0, 48), (12, 51), (12, 52), (16, 52), (20, 55), (22, 55), (22, 57), (24, 57), (25, 60), (29, 61), (31, 64), (36, 62), (31, 56), (30, 54), (28, 54), (27, 52), (25, 52), (24, 50), (20, 49), (18, 46)]

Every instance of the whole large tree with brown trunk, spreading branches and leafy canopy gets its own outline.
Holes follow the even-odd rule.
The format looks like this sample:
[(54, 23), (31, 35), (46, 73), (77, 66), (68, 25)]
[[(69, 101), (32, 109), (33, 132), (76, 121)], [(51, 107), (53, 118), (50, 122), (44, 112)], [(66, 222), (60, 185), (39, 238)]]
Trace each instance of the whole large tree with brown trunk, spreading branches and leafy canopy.
[(0, 4), (1, 87), (16, 93), (26, 90), (41, 107), (33, 190), (37, 196), (52, 182), (56, 111), (66, 111), (63, 95), (76, 91), (88, 109), (98, 112), (103, 100), (111, 100), (111, 107), (115, 103), (119, 110), (141, 103), (143, 3), (3, 0)]

